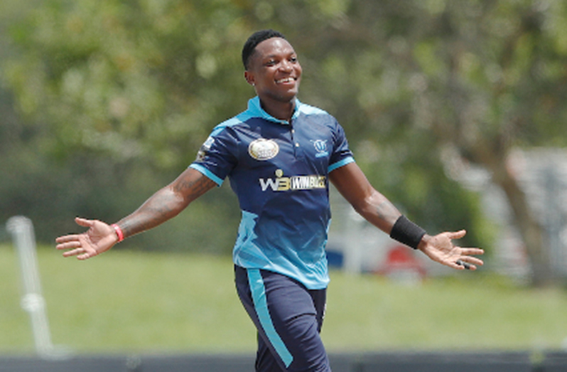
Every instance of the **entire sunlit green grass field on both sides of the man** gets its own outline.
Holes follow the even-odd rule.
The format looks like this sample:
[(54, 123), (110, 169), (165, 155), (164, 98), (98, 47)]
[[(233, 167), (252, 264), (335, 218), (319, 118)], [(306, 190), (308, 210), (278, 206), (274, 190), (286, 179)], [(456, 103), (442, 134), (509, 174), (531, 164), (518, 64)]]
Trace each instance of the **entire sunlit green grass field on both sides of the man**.
[[(229, 257), (114, 249), (78, 262), (41, 248), (38, 260), (54, 344), (83, 354), (254, 351)], [(19, 289), (17, 256), (0, 245), (0, 354), (33, 351)], [(482, 272), (421, 285), (332, 272), (323, 339), (331, 352), (559, 349), (566, 309), (563, 289)]]

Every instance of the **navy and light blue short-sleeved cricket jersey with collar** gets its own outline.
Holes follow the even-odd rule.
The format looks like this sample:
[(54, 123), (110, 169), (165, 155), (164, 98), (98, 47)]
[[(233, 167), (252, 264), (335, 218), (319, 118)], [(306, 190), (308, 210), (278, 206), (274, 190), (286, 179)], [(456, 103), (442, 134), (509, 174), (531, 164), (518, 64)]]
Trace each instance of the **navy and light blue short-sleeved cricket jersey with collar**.
[(296, 100), (286, 122), (254, 97), (246, 111), (212, 130), (190, 168), (218, 185), (228, 176), (237, 194), (242, 220), (234, 264), (323, 289), (329, 282), (328, 174), (352, 161), (345, 132), (327, 112)]

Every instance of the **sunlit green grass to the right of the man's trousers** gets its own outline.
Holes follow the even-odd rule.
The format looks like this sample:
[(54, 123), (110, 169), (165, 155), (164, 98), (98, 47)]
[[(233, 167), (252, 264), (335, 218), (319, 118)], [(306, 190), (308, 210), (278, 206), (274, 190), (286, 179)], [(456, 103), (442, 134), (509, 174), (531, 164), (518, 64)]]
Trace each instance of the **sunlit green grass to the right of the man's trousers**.
[(566, 293), (463, 272), (419, 285), (335, 272), (323, 339), (331, 351), (558, 349)]

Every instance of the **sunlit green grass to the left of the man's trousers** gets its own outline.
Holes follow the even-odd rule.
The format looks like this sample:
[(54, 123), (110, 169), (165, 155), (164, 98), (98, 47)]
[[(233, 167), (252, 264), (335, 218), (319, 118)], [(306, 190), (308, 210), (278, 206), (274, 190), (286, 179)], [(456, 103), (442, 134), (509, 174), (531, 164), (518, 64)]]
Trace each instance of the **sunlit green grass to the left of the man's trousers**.
[[(30, 349), (28, 317), (18, 307), (17, 257), (6, 247), (0, 257), (2, 292), (9, 294), (0, 302), (0, 349)], [(255, 347), (229, 257), (113, 250), (79, 262), (41, 249), (38, 260), (54, 344), (87, 353)]]

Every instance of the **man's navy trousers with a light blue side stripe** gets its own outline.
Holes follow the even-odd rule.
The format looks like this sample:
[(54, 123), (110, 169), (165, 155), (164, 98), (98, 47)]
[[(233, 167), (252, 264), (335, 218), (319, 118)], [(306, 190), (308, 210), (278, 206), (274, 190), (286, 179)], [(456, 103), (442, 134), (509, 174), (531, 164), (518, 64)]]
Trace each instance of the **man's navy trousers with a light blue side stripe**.
[(240, 301), (258, 330), (257, 372), (330, 372), (320, 339), (326, 289), (276, 272), (234, 266)]

